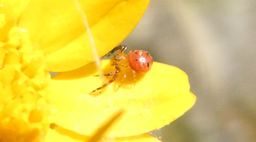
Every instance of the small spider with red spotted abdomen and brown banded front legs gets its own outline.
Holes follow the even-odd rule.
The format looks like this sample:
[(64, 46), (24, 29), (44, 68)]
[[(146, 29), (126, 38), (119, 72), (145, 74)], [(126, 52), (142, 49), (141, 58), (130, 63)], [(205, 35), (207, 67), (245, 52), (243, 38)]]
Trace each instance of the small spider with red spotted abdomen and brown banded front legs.
[[(102, 85), (101, 87), (93, 90), (89, 94), (98, 91), (110, 83), (114, 82), (115, 79), (118, 77), (118, 74), (120, 73), (121, 67), (128, 67), (130, 66), (132, 69), (133, 77), (134, 77), (134, 85), (136, 82), (136, 72), (139, 73), (145, 73), (149, 71), (152, 68), (153, 65), (153, 59), (152, 57), (147, 53), (147, 51), (144, 50), (134, 50), (131, 51), (128, 55), (125, 54), (125, 51), (127, 49), (127, 46), (125, 45), (119, 45), (116, 46), (114, 49), (110, 51), (111, 54), (113, 54), (115, 51), (117, 51), (114, 55), (114, 57), (111, 59), (112, 64), (111, 66), (115, 66), (116, 71), (109, 72), (107, 74), (103, 74), (104, 76), (113, 76), (112, 79), (108, 80), (107, 83)], [(94, 75), (99, 76), (99, 75)], [(123, 80), (126, 78), (126, 74), (123, 76)], [(122, 83), (122, 81), (121, 81)], [(120, 86), (119, 86), (120, 87)]]

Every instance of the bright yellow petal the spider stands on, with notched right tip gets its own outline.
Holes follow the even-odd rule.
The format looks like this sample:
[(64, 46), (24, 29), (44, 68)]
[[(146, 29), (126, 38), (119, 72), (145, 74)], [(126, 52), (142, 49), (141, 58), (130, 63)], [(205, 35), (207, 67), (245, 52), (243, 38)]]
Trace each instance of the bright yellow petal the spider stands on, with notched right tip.
[[(105, 73), (115, 70), (110, 60), (101, 63)], [(150, 71), (137, 74), (135, 86), (130, 69), (122, 71), (127, 72), (127, 79), (118, 91), (115, 90), (121, 74), (114, 83), (90, 95), (89, 92), (102, 85), (99, 77), (92, 76), (97, 74), (94, 63), (56, 75), (47, 96), (54, 113), (52, 122), (90, 135), (117, 109), (124, 109), (106, 135), (131, 136), (169, 124), (196, 101), (189, 91), (188, 76), (176, 67), (154, 62)]]

